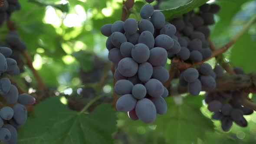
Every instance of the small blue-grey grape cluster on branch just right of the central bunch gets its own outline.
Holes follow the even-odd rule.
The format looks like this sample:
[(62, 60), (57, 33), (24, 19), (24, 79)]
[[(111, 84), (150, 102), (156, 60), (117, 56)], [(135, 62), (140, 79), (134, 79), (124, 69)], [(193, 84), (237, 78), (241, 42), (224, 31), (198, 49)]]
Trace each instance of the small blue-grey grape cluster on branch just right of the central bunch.
[(208, 63), (203, 63), (198, 69), (186, 69), (181, 72), (179, 86), (187, 88), (191, 95), (199, 95), (202, 86), (214, 89), (216, 87), (216, 73), (214, 71)]

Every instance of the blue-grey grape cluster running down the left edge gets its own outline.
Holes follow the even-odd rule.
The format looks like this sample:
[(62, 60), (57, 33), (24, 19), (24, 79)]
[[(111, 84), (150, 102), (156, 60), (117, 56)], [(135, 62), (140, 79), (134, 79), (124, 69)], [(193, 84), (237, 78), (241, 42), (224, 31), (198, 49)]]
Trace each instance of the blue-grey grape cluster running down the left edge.
[(33, 105), (36, 99), (28, 94), (20, 94), (15, 85), (5, 75), (17, 75), (20, 69), (14, 59), (9, 58), (12, 50), (7, 47), (0, 47), (0, 95), (7, 104), (13, 107), (0, 109), (0, 141), (7, 144), (17, 143), (17, 128), (26, 122), (27, 110), (25, 105)]

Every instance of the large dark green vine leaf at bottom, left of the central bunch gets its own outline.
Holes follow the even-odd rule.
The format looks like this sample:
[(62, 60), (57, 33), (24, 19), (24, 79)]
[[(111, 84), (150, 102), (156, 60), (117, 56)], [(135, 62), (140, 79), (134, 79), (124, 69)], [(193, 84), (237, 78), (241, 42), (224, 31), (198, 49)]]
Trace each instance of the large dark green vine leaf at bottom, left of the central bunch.
[(91, 114), (79, 114), (58, 97), (36, 105), (35, 113), (19, 131), (19, 144), (112, 144), (116, 116), (102, 104)]

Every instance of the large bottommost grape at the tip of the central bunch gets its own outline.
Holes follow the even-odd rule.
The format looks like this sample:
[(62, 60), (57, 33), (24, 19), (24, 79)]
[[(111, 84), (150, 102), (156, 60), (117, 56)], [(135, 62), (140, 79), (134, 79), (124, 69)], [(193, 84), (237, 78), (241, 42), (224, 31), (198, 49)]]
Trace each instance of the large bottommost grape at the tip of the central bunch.
[(135, 107), (138, 118), (144, 123), (151, 123), (157, 116), (157, 110), (154, 103), (148, 98), (143, 98), (137, 102)]

